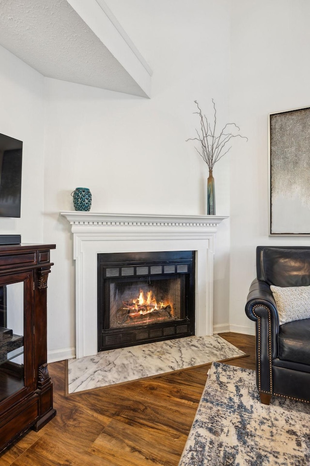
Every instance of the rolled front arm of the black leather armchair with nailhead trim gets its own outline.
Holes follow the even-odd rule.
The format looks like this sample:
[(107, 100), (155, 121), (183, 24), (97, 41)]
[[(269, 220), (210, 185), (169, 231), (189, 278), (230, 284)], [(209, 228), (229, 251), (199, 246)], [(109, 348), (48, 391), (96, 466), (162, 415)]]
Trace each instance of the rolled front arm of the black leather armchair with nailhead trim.
[(256, 379), (260, 392), (272, 394), (272, 360), (279, 355), (279, 316), (268, 283), (253, 280), (246, 314), (256, 322)]

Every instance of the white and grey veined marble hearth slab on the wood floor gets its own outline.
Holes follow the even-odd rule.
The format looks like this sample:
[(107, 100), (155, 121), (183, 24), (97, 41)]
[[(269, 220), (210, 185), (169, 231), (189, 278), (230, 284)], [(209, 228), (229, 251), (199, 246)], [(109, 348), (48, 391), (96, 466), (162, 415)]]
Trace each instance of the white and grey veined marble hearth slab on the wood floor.
[(68, 393), (244, 356), (219, 335), (189, 336), (68, 361)]

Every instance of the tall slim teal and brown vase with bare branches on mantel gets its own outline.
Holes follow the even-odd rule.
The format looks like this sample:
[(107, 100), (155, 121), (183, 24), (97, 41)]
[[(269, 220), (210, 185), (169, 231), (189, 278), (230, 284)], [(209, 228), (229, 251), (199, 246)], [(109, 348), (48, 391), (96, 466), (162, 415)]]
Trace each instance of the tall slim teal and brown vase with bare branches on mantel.
[(231, 149), (232, 146), (228, 146), (230, 140), (233, 137), (239, 136), (247, 140), (248, 138), (241, 136), (241, 134), (233, 134), (229, 131), (229, 127), (240, 131), (239, 126), (237, 126), (235, 123), (226, 123), (224, 128), (218, 133), (218, 135), (216, 135), (217, 111), (214, 100), (212, 99), (214, 108), (214, 124), (212, 127), (207, 117), (202, 115), (202, 111), (197, 100), (195, 100), (195, 103), (197, 105), (198, 111), (194, 113), (200, 117), (200, 130), (196, 129), (197, 137), (190, 137), (186, 139), (186, 141), (199, 141), (200, 143), (200, 148), (197, 149), (197, 147), (195, 147), (195, 149), (209, 168), (207, 186), (207, 215), (215, 215), (215, 183), (213, 178), (213, 167)]

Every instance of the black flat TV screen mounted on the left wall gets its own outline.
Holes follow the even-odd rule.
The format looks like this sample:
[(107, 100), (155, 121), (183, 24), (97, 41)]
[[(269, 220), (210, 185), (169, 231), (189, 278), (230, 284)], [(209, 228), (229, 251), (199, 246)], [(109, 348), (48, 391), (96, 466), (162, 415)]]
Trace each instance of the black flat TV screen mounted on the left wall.
[(0, 216), (20, 217), (23, 143), (0, 134)]

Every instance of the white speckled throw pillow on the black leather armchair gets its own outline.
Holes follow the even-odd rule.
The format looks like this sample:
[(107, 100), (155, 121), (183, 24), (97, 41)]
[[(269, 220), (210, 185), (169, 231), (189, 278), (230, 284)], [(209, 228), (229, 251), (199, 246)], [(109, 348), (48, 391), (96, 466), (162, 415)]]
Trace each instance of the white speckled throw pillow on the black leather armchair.
[(270, 285), (276, 301), (279, 324), (310, 318), (310, 286)]

